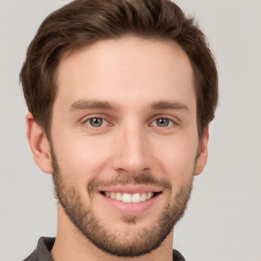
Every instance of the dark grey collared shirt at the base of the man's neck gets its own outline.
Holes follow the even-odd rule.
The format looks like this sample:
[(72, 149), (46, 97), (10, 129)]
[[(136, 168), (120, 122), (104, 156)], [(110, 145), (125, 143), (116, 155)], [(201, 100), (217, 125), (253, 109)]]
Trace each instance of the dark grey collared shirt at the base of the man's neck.
[[(42, 237), (38, 240), (35, 251), (25, 258), (23, 261), (54, 261), (51, 258), (50, 250), (55, 244), (55, 238)], [(164, 260), (159, 260), (164, 261)], [(177, 251), (173, 249), (173, 261), (186, 261), (185, 258)]]

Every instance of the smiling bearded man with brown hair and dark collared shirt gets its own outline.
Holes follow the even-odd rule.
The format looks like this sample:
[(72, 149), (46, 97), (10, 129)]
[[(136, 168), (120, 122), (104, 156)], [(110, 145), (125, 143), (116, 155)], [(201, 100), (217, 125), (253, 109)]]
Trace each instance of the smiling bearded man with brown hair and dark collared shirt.
[(20, 80), (53, 174), (57, 237), (25, 260), (185, 260), (172, 250), (218, 100), (203, 33), (168, 0), (79, 0), (50, 14)]

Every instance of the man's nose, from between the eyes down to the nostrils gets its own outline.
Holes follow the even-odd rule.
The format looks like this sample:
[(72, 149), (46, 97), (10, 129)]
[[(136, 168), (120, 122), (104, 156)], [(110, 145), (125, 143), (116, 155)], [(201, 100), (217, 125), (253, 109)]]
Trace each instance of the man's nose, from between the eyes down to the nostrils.
[(140, 126), (121, 129), (114, 140), (113, 169), (120, 174), (139, 175), (151, 170), (151, 149), (146, 132)]

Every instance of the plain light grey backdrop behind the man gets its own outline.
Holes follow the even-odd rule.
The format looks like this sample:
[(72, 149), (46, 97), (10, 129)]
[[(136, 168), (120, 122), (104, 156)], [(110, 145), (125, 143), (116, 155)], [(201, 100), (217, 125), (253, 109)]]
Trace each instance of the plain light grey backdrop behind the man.
[[(0, 260), (28, 256), (56, 235), (50, 175), (25, 138), (18, 82), (42, 20), (64, 0), (0, 0)], [(191, 261), (261, 260), (261, 1), (177, 0), (198, 18), (218, 61), (220, 106), (210, 126), (208, 163), (195, 178), (174, 248)]]

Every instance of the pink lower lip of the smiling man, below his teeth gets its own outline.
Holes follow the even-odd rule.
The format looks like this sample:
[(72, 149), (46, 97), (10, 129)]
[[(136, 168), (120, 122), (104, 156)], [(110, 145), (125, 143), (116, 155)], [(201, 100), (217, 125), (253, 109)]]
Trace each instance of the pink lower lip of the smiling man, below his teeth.
[(116, 211), (120, 212), (123, 215), (138, 215), (141, 214), (149, 208), (153, 207), (156, 201), (160, 198), (161, 193), (156, 194), (152, 198), (139, 202), (139, 203), (125, 203), (116, 199), (109, 198), (101, 193), (98, 193), (103, 200), (106, 201), (106, 204), (112, 206)]

